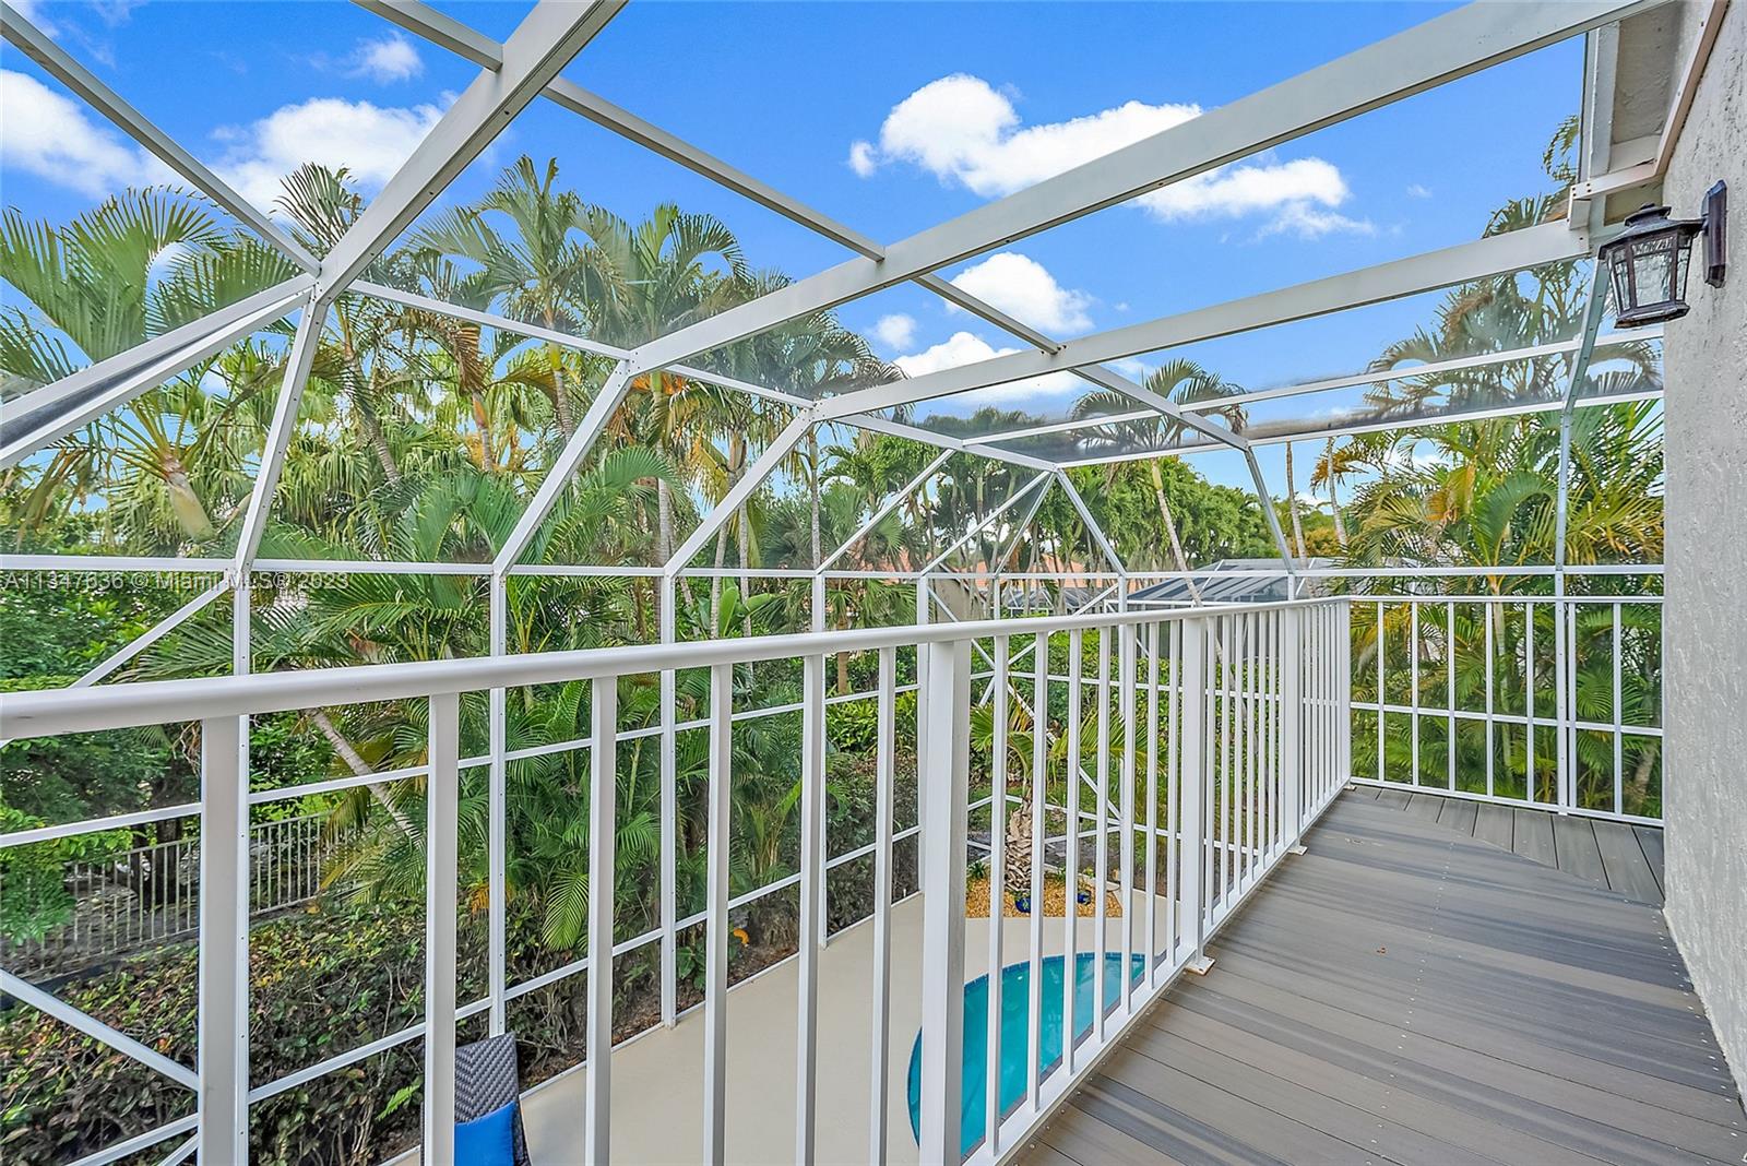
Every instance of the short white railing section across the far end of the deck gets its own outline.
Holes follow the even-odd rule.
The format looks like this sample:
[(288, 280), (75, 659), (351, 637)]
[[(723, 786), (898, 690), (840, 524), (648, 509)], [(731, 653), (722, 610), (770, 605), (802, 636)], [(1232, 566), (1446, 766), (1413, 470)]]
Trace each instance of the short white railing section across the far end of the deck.
[(1356, 780), (1661, 820), (1661, 595), (1356, 597), (1352, 634)]

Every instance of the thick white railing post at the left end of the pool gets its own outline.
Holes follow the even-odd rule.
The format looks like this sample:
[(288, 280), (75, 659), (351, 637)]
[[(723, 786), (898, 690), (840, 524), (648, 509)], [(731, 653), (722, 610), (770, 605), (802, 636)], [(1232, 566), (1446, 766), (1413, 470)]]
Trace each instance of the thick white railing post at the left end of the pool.
[[(926, 653), (922, 787), (921, 1161), (957, 1163), (964, 1051), (964, 831), (970, 796), (970, 641)], [(1071, 894), (1071, 892), (1069, 892)]]

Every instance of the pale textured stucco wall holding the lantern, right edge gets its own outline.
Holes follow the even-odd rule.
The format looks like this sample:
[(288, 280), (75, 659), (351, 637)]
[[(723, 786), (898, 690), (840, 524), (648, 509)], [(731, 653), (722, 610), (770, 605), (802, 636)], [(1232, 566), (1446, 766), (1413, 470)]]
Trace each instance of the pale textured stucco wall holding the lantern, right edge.
[(1747, 1086), (1747, 0), (1735, 0), (1668, 171), (1698, 209), (1730, 185), (1730, 279), (1695, 272), (1668, 325), (1668, 925)]

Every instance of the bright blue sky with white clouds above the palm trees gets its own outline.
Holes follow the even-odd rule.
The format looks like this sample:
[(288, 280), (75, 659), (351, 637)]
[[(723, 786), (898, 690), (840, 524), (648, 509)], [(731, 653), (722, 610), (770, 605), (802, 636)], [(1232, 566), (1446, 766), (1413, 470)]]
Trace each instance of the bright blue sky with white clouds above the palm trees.
[[(475, 75), (379, 17), (327, 0), (23, 7), (260, 201), (278, 173), (304, 157), (346, 162), (374, 192)], [(438, 7), (496, 38), (526, 10)], [(639, 0), (568, 77), (891, 241), (1447, 7)], [(0, 66), (7, 206), (58, 222), (105, 192), (157, 176), (19, 54), (7, 49)], [(1462, 243), (1499, 202), (1544, 189), (1541, 150), (1576, 110), (1579, 75), (1581, 44), (1565, 42), (943, 274), (1038, 326), (1074, 335)], [(479, 194), (521, 152), (557, 157), (566, 183), (627, 216), (659, 201), (711, 211), (739, 234), (756, 267), (805, 276), (846, 257), (550, 103), (519, 117), (445, 201)], [(842, 316), (914, 372), (1017, 344), (914, 288), (846, 305)], [(1195, 354), (1261, 388), (1361, 368), (1426, 318), (1422, 298)], [(1050, 415), (1073, 391), (1019, 386), (989, 400)], [(1284, 485), (1279, 459), (1277, 449), (1265, 450), (1275, 492)], [(1240, 470), (1223, 457), (1195, 464), (1218, 480), (1237, 480)]]

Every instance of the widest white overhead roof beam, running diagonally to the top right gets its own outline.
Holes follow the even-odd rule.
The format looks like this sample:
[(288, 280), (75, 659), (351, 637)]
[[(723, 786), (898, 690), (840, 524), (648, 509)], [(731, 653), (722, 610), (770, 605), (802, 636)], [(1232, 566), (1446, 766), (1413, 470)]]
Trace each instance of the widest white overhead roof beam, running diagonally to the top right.
[(636, 351), (662, 368), (1293, 141), (1661, 0), (1469, 3)]

